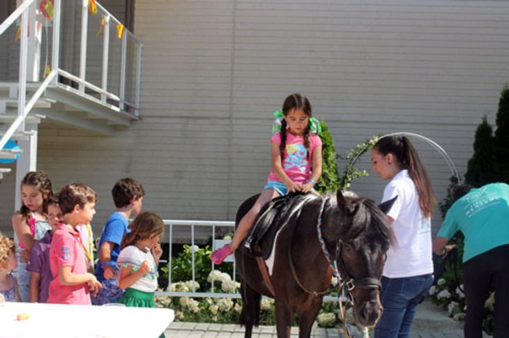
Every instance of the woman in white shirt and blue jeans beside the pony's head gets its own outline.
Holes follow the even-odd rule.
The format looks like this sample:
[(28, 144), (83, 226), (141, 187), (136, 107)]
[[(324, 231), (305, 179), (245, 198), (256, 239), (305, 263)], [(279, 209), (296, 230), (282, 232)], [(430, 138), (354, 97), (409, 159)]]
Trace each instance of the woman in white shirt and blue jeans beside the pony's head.
[(383, 268), (383, 314), (375, 337), (409, 337), (416, 307), (433, 283), (431, 215), (435, 197), (423, 162), (407, 137), (379, 139), (371, 162), (382, 180), (390, 180), (382, 201), (397, 196), (387, 214), (397, 244), (388, 250)]

